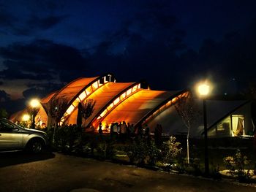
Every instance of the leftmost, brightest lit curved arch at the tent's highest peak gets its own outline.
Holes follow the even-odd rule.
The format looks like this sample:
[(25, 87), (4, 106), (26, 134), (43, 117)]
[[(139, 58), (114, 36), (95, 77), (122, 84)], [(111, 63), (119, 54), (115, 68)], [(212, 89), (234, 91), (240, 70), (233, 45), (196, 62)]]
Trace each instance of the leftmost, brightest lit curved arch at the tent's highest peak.
[[(77, 80), (80, 80), (80, 78), (78, 78)], [(67, 110), (62, 115), (60, 124), (63, 124), (65, 120), (67, 120), (69, 115), (71, 115), (72, 112), (74, 112), (74, 110), (78, 107), (79, 102), (84, 101), (86, 98), (88, 98), (91, 95), (91, 93), (94, 93), (94, 91), (102, 87), (102, 85), (105, 85), (108, 82), (115, 82), (115, 81), (116, 81), (116, 78), (114, 77), (113, 74), (102, 74), (99, 77), (95, 77), (94, 80), (91, 80), (91, 82), (89, 82), (80, 91), (78, 91), (78, 93), (76, 93), (75, 96), (73, 96), (72, 99), (69, 101), (69, 104), (67, 105), (68, 106)], [(71, 84), (69, 83), (69, 85)], [(59, 91), (59, 93), (61, 93), (61, 91)]]

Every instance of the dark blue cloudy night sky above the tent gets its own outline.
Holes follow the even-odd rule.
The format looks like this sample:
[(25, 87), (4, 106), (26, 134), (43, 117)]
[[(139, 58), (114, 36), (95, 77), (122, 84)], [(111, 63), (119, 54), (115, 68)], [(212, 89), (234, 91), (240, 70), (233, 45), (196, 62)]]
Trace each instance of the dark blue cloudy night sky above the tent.
[(0, 107), (22, 109), (77, 77), (152, 89), (256, 81), (256, 1), (0, 0)]

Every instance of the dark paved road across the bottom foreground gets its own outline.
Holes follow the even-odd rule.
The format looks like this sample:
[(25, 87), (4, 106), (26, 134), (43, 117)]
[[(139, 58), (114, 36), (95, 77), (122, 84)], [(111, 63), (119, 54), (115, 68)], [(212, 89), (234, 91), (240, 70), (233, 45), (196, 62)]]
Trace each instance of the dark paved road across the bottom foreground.
[(0, 191), (255, 192), (256, 188), (58, 153), (0, 153)]

